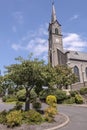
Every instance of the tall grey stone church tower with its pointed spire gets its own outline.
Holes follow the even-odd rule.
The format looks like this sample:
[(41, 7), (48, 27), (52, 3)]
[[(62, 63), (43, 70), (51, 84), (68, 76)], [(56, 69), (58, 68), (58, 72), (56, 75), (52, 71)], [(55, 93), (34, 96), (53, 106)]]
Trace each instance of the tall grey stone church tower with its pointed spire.
[(51, 22), (49, 23), (48, 62), (54, 67), (59, 64), (58, 51), (63, 53), (61, 25), (57, 20), (54, 2), (52, 3)]

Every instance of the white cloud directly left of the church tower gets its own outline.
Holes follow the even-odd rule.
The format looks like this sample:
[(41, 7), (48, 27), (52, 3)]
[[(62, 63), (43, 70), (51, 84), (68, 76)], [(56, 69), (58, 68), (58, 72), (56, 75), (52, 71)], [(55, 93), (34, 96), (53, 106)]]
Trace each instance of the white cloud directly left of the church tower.
[[(25, 50), (33, 53), (36, 57), (46, 57), (48, 51), (48, 33), (46, 24), (40, 26), (36, 31), (30, 31), (23, 36), (18, 43), (13, 43), (12, 48), (15, 51)], [(46, 59), (46, 58), (44, 58)]]

